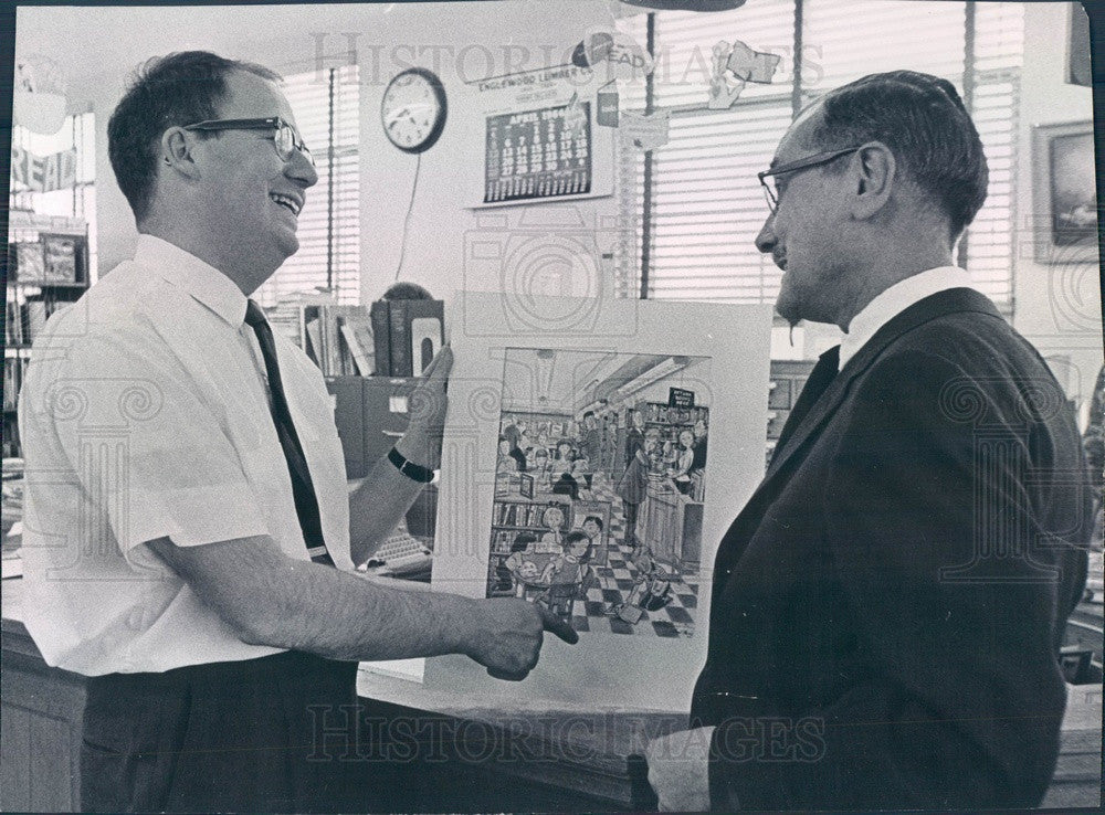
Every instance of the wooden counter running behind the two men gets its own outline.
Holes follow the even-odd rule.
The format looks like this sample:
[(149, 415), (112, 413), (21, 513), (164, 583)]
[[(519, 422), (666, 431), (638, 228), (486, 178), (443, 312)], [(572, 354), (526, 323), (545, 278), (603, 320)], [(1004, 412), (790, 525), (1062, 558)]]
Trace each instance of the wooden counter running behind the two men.
[[(3, 581), (0, 811), (72, 812), (84, 677), (42, 660), (20, 622), (20, 589)], [(356, 747), (341, 754), (348, 773), (334, 802), (346, 812), (651, 809), (643, 747), (686, 724), (676, 713), (450, 709), (448, 696), (364, 671), (358, 688)], [(414, 698), (434, 710), (412, 707)], [(1097, 806), (1102, 689), (1069, 686), (1067, 698), (1044, 805)]]

